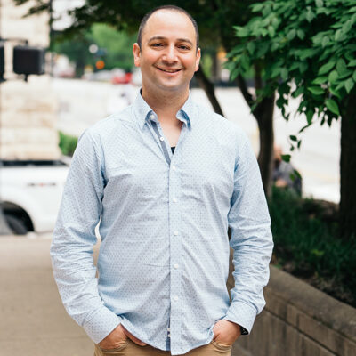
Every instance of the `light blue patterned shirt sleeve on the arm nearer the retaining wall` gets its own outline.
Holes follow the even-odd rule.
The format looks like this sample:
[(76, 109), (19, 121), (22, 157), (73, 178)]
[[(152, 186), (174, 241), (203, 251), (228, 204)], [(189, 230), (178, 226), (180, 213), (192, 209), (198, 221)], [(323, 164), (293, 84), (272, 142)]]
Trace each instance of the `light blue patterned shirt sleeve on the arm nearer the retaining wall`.
[(249, 333), (256, 315), (265, 305), (263, 287), (270, 277), (273, 241), (260, 170), (247, 137), (243, 138), (235, 164), (228, 214), (235, 286), (231, 289), (231, 306), (224, 319), (239, 324)]

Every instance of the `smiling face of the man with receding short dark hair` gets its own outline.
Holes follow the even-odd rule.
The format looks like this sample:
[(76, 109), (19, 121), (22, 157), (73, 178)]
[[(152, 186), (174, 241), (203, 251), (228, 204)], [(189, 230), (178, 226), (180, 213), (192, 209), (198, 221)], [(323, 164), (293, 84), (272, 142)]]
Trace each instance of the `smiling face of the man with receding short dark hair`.
[(134, 44), (134, 64), (141, 68), (144, 93), (188, 91), (199, 60), (195, 29), (182, 12), (153, 13), (143, 30), (142, 48)]

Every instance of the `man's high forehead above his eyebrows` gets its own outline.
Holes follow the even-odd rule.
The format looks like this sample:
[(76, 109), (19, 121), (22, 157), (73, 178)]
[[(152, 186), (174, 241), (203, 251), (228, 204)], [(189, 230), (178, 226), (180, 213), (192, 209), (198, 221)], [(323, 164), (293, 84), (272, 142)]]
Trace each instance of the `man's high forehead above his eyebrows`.
[(142, 40), (148, 41), (152, 36), (187, 38), (196, 43), (195, 28), (190, 18), (183, 12), (158, 10), (154, 12), (143, 30)]

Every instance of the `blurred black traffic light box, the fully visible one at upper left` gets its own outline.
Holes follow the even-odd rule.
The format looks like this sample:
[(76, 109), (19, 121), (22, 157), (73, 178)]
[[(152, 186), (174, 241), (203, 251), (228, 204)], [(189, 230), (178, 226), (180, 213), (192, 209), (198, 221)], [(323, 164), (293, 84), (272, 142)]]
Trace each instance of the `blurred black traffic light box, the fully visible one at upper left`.
[(44, 48), (29, 45), (13, 47), (13, 71), (16, 74), (44, 74)]

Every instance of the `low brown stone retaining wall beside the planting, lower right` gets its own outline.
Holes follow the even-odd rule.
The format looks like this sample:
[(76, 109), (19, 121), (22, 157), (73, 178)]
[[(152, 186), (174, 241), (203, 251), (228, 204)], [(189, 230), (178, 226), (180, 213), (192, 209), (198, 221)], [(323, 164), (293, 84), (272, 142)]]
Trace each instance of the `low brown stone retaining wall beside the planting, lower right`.
[(239, 338), (231, 356), (356, 355), (355, 308), (274, 266), (265, 298), (251, 334)]

